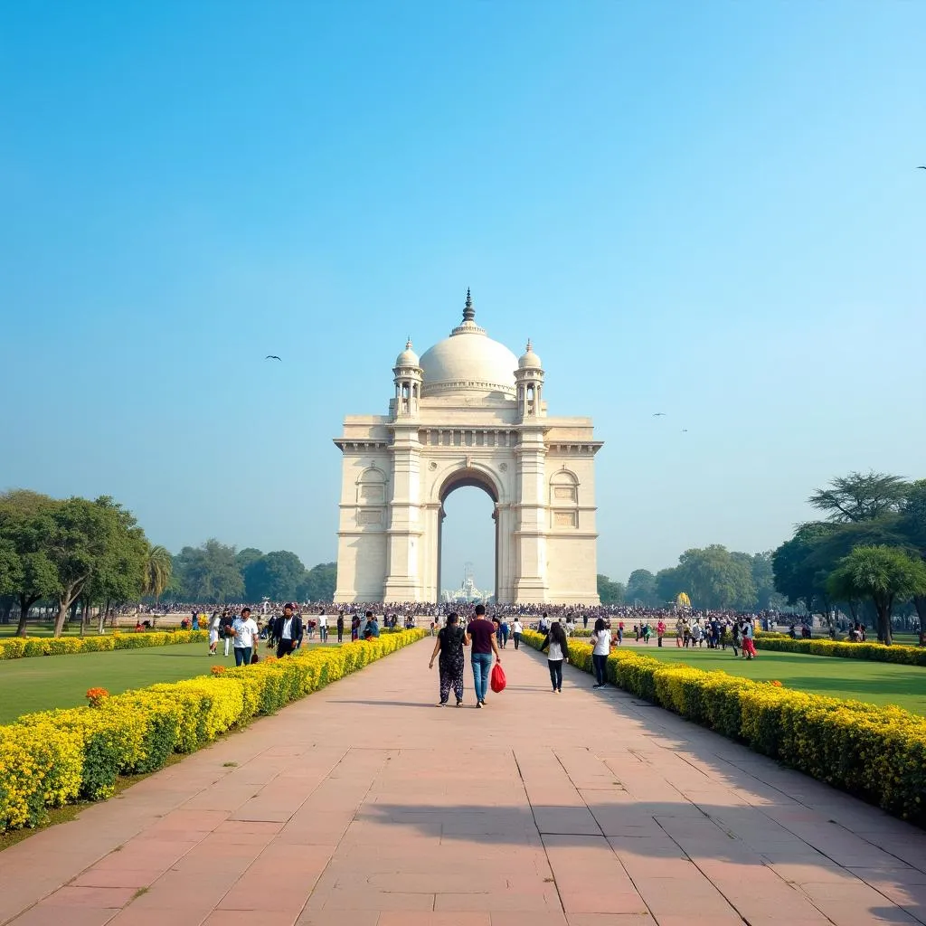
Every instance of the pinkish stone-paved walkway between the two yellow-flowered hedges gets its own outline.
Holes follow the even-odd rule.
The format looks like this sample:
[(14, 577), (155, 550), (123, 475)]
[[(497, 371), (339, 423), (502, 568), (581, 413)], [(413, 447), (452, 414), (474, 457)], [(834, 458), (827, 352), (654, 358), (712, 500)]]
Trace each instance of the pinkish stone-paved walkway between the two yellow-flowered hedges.
[(919, 830), (510, 645), (438, 710), (431, 646), (6, 850), (0, 923), (926, 922)]

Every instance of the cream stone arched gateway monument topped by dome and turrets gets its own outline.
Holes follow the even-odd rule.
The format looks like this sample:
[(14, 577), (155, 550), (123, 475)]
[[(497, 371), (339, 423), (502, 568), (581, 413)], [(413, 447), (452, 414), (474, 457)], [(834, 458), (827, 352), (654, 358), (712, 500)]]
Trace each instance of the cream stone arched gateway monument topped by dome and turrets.
[(339, 602), (436, 602), (444, 500), (494, 501), (495, 598), (597, 604), (592, 419), (547, 418), (544, 369), (463, 322), (395, 361), (386, 416), (348, 416), (338, 531)]

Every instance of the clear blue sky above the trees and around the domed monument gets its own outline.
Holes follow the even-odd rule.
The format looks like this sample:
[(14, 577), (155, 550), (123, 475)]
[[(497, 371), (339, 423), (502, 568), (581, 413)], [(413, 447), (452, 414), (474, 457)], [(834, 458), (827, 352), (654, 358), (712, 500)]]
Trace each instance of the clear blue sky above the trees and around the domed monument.
[(0, 487), (332, 559), (331, 438), (467, 286), (594, 416), (614, 577), (924, 476), (924, 44), (910, 3), (6, 4)]

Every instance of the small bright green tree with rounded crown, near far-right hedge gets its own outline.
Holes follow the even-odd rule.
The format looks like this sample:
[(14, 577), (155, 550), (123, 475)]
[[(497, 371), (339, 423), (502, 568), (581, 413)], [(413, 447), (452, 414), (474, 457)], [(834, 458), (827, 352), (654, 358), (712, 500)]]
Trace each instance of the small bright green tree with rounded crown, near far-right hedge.
[(926, 594), (926, 563), (893, 546), (857, 546), (833, 570), (833, 597), (871, 599), (878, 614), (878, 639), (890, 646), (891, 613), (895, 602)]

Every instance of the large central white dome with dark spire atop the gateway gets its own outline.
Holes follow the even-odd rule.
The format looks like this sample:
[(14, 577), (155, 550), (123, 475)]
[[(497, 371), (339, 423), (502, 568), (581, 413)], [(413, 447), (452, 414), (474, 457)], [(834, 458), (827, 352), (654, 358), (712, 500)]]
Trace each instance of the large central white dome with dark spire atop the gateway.
[(421, 395), (501, 393), (515, 395), (518, 357), (476, 324), (469, 290), (463, 323), (421, 355)]

